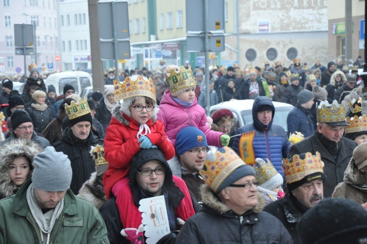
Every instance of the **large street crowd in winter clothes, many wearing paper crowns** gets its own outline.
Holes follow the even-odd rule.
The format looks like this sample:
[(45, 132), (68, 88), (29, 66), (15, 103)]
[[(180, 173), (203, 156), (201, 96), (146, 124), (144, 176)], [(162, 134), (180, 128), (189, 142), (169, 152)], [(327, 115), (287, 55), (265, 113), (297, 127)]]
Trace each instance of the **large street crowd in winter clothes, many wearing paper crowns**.
[[(31, 64), (22, 95), (1, 82), (0, 242), (363, 243), (358, 65), (161, 62), (110, 69), (112, 88), (80, 98), (70, 84), (57, 96)], [(210, 105), (254, 99), (252, 123), (206, 116), (205, 75)], [(288, 131), (273, 101), (294, 106)]]

